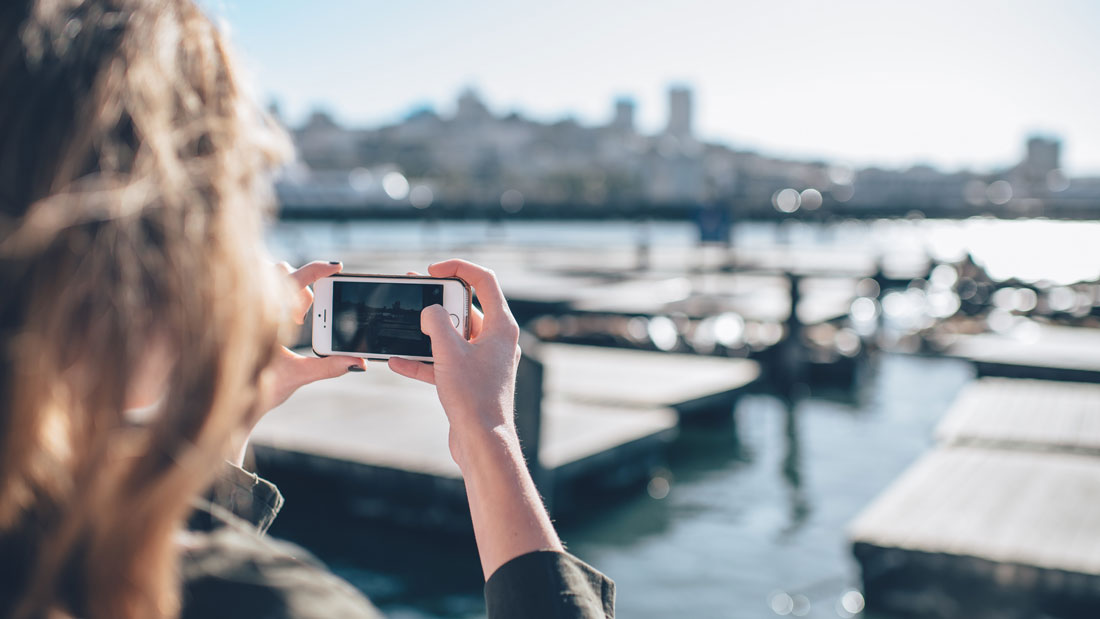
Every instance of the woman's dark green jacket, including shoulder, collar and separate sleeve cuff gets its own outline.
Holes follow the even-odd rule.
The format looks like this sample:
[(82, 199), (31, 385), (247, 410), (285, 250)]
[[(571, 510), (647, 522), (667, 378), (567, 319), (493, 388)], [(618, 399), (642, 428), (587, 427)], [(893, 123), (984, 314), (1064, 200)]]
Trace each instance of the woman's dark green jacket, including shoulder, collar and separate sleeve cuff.
[[(182, 539), (183, 617), (382, 617), (308, 552), (264, 534), (282, 507), (274, 485), (227, 468)], [(485, 604), (490, 619), (613, 619), (615, 584), (571, 554), (531, 552), (493, 573)]]

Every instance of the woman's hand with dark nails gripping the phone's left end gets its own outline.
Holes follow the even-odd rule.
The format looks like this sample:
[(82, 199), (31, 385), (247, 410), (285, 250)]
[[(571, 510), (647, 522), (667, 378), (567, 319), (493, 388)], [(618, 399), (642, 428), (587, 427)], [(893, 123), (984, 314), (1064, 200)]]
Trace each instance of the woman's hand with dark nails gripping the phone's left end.
[[(314, 305), (314, 291), (309, 289), (309, 286), (322, 277), (340, 273), (343, 265), (340, 263), (312, 262), (294, 270), (287, 263), (279, 263), (278, 268), (295, 281), (298, 297), (292, 305), (294, 321), (297, 324), (304, 324), (306, 312)], [(267, 379), (267, 389), (261, 402), (261, 416), (286, 401), (299, 387), (324, 378), (343, 376), (349, 372), (362, 372), (364, 369), (366, 369), (366, 362), (359, 357), (339, 355), (327, 357), (304, 356), (283, 347), (267, 367), (271, 376)]]

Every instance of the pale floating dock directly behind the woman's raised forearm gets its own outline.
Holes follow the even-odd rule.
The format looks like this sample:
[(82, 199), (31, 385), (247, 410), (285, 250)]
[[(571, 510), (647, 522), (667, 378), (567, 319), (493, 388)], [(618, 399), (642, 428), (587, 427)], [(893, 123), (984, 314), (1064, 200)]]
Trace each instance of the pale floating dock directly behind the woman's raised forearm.
[[(301, 388), (261, 421), (252, 445), (257, 467), (280, 487), (337, 488), (330, 494), (355, 516), (462, 528), (465, 488), (448, 429), (435, 387), (370, 364), (362, 375)], [(539, 461), (556, 493), (604, 473), (636, 480), (662, 462), (675, 433), (671, 409), (549, 398)]]

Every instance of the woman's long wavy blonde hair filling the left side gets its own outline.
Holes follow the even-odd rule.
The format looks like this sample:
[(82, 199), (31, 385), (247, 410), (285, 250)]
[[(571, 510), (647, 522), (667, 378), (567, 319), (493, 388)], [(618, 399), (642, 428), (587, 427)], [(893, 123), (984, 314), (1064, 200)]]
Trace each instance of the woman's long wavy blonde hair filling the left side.
[(174, 534), (278, 345), (286, 143), (190, 0), (7, 0), (0, 84), (0, 616), (172, 617)]

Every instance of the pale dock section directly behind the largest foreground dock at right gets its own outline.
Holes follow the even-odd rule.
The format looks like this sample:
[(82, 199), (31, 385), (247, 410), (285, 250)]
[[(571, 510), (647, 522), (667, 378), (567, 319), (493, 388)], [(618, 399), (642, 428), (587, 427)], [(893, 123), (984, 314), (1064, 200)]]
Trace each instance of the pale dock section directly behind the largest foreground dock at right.
[(946, 445), (1100, 455), (1100, 385), (980, 378), (936, 427)]

